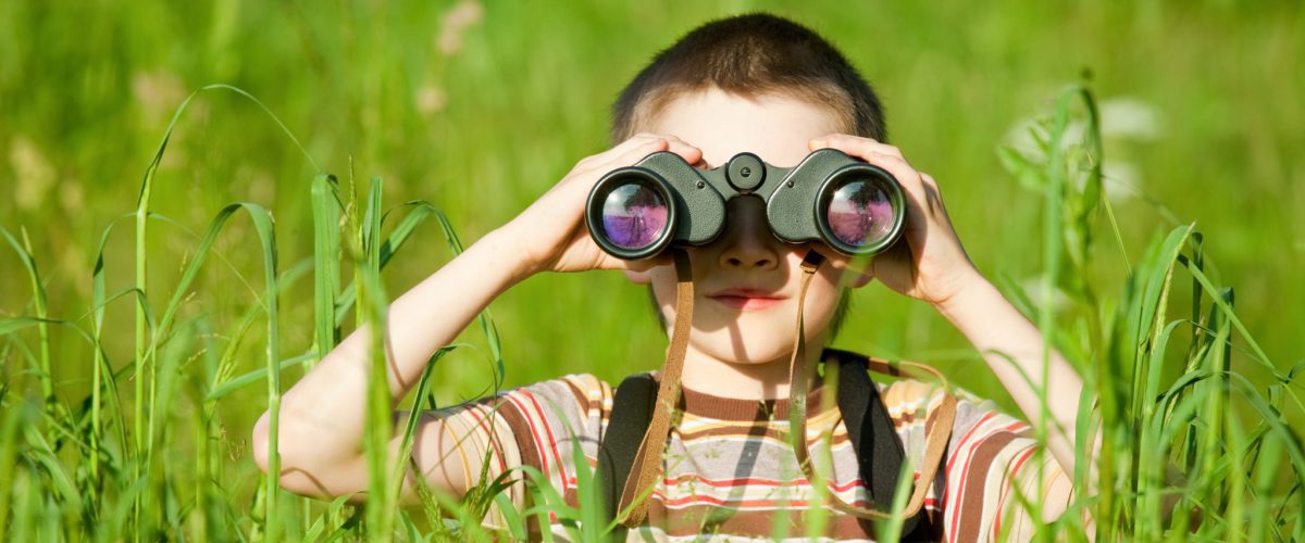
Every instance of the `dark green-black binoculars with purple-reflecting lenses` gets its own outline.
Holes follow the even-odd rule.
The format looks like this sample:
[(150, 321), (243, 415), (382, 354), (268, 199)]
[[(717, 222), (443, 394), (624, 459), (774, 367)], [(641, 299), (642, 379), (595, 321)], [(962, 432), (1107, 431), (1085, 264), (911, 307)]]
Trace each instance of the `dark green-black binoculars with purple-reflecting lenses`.
[(612, 257), (636, 260), (671, 245), (701, 246), (726, 228), (726, 203), (756, 195), (770, 232), (787, 244), (818, 241), (850, 257), (890, 247), (906, 221), (897, 178), (842, 151), (822, 148), (792, 168), (740, 152), (714, 169), (654, 152), (603, 176), (589, 193), (590, 236)]

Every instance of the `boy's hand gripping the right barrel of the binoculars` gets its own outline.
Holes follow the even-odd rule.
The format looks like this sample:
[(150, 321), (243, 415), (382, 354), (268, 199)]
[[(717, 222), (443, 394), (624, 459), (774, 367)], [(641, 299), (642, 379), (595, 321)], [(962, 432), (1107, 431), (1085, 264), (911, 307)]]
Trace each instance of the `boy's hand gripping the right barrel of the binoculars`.
[[(951, 219), (942, 207), (938, 185), (925, 173), (911, 168), (894, 146), (847, 134), (830, 134), (808, 142), (812, 151), (837, 148), (889, 171), (906, 193), (906, 228), (887, 253), (851, 270), (876, 277), (902, 294), (945, 306), (975, 280), (983, 280), (966, 255)], [(821, 244), (814, 244), (821, 246)], [(829, 251), (822, 249), (822, 251)], [(829, 257), (829, 254), (826, 254)], [(838, 262), (838, 259), (834, 259)]]

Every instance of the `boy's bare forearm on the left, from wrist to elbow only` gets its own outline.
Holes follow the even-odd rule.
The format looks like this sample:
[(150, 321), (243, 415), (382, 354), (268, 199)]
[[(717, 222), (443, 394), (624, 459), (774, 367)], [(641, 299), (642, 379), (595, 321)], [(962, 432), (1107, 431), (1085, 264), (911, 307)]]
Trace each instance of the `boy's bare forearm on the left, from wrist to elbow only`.
[[(512, 245), (491, 233), (394, 299), (385, 341), (392, 401), (398, 402), (416, 383), (436, 349), (452, 342), (525, 273)], [(371, 329), (360, 327), (286, 392), (279, 449), (287, 467), (331, 465), (361, 453), (369, 349)], [(265, 422), (266, 414), (256, 436), (266, 431)]]

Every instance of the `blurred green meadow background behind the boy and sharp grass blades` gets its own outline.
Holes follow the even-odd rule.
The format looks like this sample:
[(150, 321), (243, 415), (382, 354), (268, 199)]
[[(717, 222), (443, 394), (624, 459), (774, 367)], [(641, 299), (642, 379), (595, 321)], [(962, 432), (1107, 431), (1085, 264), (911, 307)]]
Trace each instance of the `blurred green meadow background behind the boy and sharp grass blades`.
[[(1305, 320), (1305, 18), (1300, 3), (0, 3), (0, 225), (30, 236), (51, 315), (89, 309), (102, 232), (136, 204), (140, 180), (185, 96), (230, 83), (262, 100), (317, 164), (347, 184), (385, 180), (386, 202), (425, 199), (467, 244), (504, 224), (577, 160), (607, 147), (608, 107), (650, 57), (696, 25), (753, 9), (829, 36), (886, 103), (891, 139), (933, 174), (971, 258), (992, 279), (1036, 281), (1037, 194), (997, 158), (1061, 86), (1101, 100), (1112, 203), (1135, 257), (1160, 227), (1195, 221), (1240, 316), (1280, 365), (1301, 359)], [(201, 94), (157, 177), (151, 303), (221, 206), (277, 217), (282, 268), (311, 257), (313, 167), (253, 103)], [(224, 329), (261, 289), (248, 223), (223, 234), (185, 311)], [(1103, 294), (1124, 260), (1099, 241)], [(0, 251), (0, 315), (31, 314), (18, 259)], [(130, 223), (106, 251), (108, 292), (132, 281)], [(433, 223), (388, 271), (397, 296), (450, 258)], [(311, 281), (283, 297), (282, 345), (311, 344)], [(645, 292), (619, 273), (548, 275), (492, 311), (506, 384), (564, 372), (616, 380), (660, 363)], [(130, 359), (129, 302), (110, 307), (111, 363)], [(257, 328), (257, 327), (256, 327)], [(25, 332), (26, 333), (26, 332)], [(34, 331), (30, 333), (35, 333)], [(55, 329), (60, 396), (84, 397), (90, 353)], [(476, 333), (468, 340), (482, 341)], [(258, 367), (257, 341), (247, 340)], [(882, 286), (856, 293), (838, 346), (925, 359), (1014, 405), (927, 305)], [(23, 379), (17, 358), (8, 380)], [(446, 401), (491, 374), (457, 352)], [(292, 370), (290, 379), (299, 374)], [(223, 400), (227, 422), (265, 409), (261, 387)], [(20, 388), (22, 389), (22, 388)], [(249, 426), (232, 427), (236, 436)]]

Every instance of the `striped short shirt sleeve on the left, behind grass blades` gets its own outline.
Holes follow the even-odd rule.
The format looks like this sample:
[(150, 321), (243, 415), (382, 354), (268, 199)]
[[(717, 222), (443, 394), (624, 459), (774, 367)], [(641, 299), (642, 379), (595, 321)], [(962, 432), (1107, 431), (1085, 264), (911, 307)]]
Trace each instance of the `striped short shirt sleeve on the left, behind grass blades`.
[[(530, 466), (562, 490), (574, 503), (577, 462), (592, 470), (598, 444), (612, 409), (611, 387), (592, 375), (566, 375), (502, 392), (493, 397), (442, 409), (435, 413), (459, 444), (458, 454), (488, 458), (488, 479), (519, 466)], [(465, 474), (479, 480), (480, 474)], [(523, 473), (509, 495), (519, 509), (525, 505)], [(489, 523), (501, 523), (491, 510)]]

